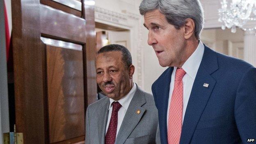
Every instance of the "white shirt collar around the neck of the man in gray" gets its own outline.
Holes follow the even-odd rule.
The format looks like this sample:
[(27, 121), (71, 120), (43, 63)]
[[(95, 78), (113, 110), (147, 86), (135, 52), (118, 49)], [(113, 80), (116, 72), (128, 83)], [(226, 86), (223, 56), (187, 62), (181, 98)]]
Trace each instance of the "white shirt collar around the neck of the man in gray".
[[(121, 99), (118, 100), (118, 102), (122, 105), (122, 107), (124, 107), (126, 110), (128, 109), (129, 105), (130, 105), (130, 101), (132, 101), (133, 96), (135, 94), (136, 91), (136, 84), (133, 82), (133, 88), (129, 91), (129, 93), (122, 97)], [(115, 100), (113, 100), (112, 98), (110, 98), (110, 106), (108, 108), (108, 110), (110, 110), (110, 107), (112, 107), (112, 103), (115, 102)]]

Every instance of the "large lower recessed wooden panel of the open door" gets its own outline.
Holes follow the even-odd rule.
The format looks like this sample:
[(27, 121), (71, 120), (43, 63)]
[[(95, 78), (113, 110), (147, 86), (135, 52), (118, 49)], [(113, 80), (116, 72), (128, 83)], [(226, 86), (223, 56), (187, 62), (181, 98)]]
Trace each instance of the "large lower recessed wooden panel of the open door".
[(46, 46), (50, 143), (85, 135), (82, 51)]

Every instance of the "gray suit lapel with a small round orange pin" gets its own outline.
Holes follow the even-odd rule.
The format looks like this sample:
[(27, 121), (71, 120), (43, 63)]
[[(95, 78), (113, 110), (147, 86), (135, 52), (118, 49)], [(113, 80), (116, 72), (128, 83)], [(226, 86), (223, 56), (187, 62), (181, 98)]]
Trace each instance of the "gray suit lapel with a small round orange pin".
[[(145, 95), (142, 90), (140, 90), (137, 86), (133, 99), (131, 100), (130, 105), (123, 118), (123, 122), (117, 134), (115, 144), (123, 144), (130, 135), (130, 133), (133, 132), (133, 129), (137, 126), (146, 110), (145, 108), (141, 107), (145, 103)], [(140, 110), (139, 114), (137, 114), (138, 110)]]

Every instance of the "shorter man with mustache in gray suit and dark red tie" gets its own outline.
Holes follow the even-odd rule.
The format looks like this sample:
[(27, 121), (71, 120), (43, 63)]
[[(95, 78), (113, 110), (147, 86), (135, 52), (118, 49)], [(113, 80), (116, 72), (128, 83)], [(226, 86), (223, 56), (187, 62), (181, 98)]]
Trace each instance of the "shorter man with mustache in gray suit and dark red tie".
[(158, 112), (153, 96), (133, 82), (135, 67), (127, 48), (104, 46), (95, 67), (106, 97), (87, 108), (86, 144), (155, 144)]

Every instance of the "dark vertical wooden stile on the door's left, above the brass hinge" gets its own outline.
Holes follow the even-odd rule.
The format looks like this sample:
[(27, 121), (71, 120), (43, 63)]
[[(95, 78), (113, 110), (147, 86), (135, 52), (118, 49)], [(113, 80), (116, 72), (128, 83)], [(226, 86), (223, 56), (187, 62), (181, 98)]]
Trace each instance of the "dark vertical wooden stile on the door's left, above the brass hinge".
[(24, 133), (24, 144), (46, 144), (44, 50), (40, 40), (39, 1), (12, 0), (11, 3), (15, 4), (11, 9), (16, 131)]

